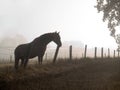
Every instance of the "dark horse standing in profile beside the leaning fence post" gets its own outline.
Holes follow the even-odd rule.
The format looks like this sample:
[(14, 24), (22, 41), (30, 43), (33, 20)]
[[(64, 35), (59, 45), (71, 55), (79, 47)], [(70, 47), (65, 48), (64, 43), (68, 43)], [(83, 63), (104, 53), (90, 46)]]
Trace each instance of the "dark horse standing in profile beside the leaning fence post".
[(15, 69), (18, 69), (19, 60), (21, 59), (21, 66), (26, 67), (28, 60), (38, 56), (39, 64), (42, 64), (43, 56), (46, 46), (51, 41), (55, 42), (58, 47), (62, 45), (59, 33), (46, 33), (27, 44), (21, 44), (16, 47), (15, 54)]

